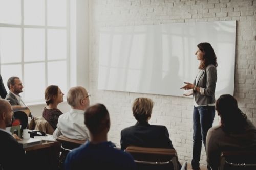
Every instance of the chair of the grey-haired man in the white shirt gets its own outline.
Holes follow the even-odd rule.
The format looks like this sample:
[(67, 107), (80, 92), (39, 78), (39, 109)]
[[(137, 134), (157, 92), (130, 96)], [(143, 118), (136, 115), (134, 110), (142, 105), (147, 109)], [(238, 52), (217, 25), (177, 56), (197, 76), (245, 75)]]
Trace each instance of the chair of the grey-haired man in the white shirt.
[(59, 169), (63, 169), (63, 163), (66, 159), (67, 154), (74, 148), (79, 147), (81, 144), (85, 143), (86, 140), (75, 140), (67, 138), (63, 135), (57, 137), (56, 139), (61, 143), (61, 152), (59, 155)]

